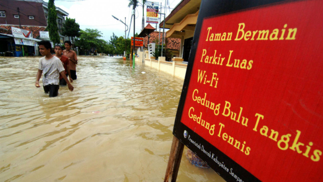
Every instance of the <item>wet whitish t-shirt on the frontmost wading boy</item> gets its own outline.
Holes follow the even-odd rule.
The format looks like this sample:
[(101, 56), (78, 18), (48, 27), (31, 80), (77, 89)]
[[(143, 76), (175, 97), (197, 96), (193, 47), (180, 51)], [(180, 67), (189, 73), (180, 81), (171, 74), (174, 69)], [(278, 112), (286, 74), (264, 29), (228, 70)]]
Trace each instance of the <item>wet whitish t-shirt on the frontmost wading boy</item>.
[(46, 60), (45, 57), (39, 59), (38, 69), (43, 71), (43, 86), (46, 85), (59, 85), (59, 73), (65, 69), (62, 61), (53, 56), (51, 59)]

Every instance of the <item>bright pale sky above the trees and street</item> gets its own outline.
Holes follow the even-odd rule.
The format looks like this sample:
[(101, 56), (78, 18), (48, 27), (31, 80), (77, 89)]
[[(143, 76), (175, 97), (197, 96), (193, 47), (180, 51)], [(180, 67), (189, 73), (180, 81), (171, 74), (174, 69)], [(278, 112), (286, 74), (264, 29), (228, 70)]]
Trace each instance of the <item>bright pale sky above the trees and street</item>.
[[(48, 0), (44, 0), (48, 2)], [(166, 17), (170, 14), (170, 11), (177, 6), (181, 0), (169, 0), (170, 10), (167, 10)], [(141, 0), (139, 0), (141, 3)], [(153, 0), (153, 2), (162, 2), (162, 6), (165, 6), (165, 0)], [(110, 40), (110, 36), (114, 33), (116, 36), (124, 36), (125, 26), (123, 23), (113, 18), (113, 16), (121, 19), (124, 22), (126, 18), (126, 24), (129, 26), (131, 19), (132, 7), (128, 7), (129, 0), (55, 0), (55, 6), (63, 9), (69, 15), (69, 18), (75, 18), (75, 21), (80, 25), (80, 29), (86, 28), (98, 29), (102, 33), (102, 39)], [(164, 13), (164, 9), (162, 10)], [(144, 16), (146, 16), (146, 6), (144, 10)], [(146, 17), (145, 17), (146, 18)], [(162, 17), (163, 19), (163, 17)], [(142, 6), (136, 8), (136, 33), (141, 32), (142, 22)], [(148, 23), (145, 21), (145, 26)], [(134, 35), (134, 23), (131, 24), (130, 35)], [(156, 24), (151, 24), (156, 27)], [(166, 31), (166, 30), (165, 30)], [(127, 37), (128, 37), (127, 31)]]

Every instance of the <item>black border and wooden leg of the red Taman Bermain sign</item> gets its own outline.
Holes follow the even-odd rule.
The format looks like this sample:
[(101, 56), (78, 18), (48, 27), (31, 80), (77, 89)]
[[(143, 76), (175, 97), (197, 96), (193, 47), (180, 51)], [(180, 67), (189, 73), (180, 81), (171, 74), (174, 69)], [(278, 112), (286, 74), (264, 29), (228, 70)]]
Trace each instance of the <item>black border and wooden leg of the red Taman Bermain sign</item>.
[[(177, 109), (177, 113), (176, 113), (176, 117), (175, 117), (175, 123), (174, 123), (174, 129), (173, 129), (173, 135), (174, 135), (173, 143), (174, 143), (174, 141), (178, 140), (178, 141), (180, 141), (179, 143), (184, 144), (185, 146), (187, 146), (190, 149), (196, 147), (192, 143), (187, 142), (186, 137), (183, 135), (183, 133), (185, 131), (187, 131), (191, 135), (192, 138), (196, 139), (196, 141), (198, 143), (200, 141), (203, 142), (203, 145), (205, 148), (211, 148), (212, 151), (216, 151), (218, 157), (220, 157), (221, 159), (225, 159), (224, 163), (230, 164), (230, 166), (233, 168), (238, 168), (239, 171), (241, 171), (239, 173), (240, 179), (247, 179), (247, 181), (257, 182), (260, 180), (257, 179), (253, 174), (251, 174), (247, 170), (245, 170), (243, 167), (241, 167), (238, 163), (236, 163), (230, 157), (228, 157), (227, 155), (222, 153), (215, 146), (212, 146), (205, 139), (203, 139), (201, 136), (196, 134), (193, 130), (191, 130), (189, 127), (187, 127), (186, 125), (184, 125), (181, 122), (183, 109), (184, 109), (185, 101), (187, 98), (187, 91), (189, 88), (188, 86), (190, 83), (191, 73), (193, 70), (194, 59), (195, 59), (195, 55), (196, 55), (196, 51), (197, 51), (198, 43), (199, 43), (199, 39), (200, 39), (202, 24), (203, 24), (204, 18), (221, 16), (221, 15), (235, 13), (235, 12), (239, 12), (239, 11), (243, 11), (243, 10), (247, 10), (247, 9), (254, 9), (254, 8), (258, 8), (258, 7), (265, 7), (268, 5), (270, 6), (270, 5), (274, 5), (274, 4), (282, 4), (282, 3), (289, 3), (289, 2), (293, 2), (293, 1), (287, 1), (287, 0), (264, 0), (264, 1), (257, 1), (257, 0), (218, 0), (218, 1), (202, 0), (199, 16), (198, 16), (197, 23), (196, 23), (195, 33), (194, 33), (193, 42), (192, 42), (192, 48), (191, 48), (190, 55), (188, 58), (187, 72), (186, 72), (186, 76), (185, 76), (185, 80), (184, 80), (184, 84), (183, 84), (183, 89), (182, 89), (182, 93), (181, 93), (181, 97), (180, 97), (180, 101), (179, 101), (179, 105), (178, 105), (178, 109)], [(183, 147), (183, 146), (180, 146), (180, 145), (177, 145), (174, 147), (172, 146), (172, 149), (170, 152), (170, 159), (169, 159), (169, 166), (170, 167), (168, 166), (165, 180), (164, 180), (165, 182), (169, 180), (170, 175), (172, 175), (172, 178), (175, 178), (175, 179), (172, 179), (172, 181), (173, 180), (176, 181), (179, 164), (174, 164), (174, 160), (171, 161), (171, 156), (172, 156), (172, 158), (175, 158), (177, 160), (179, 158), (179, 160), (180, 160), (180, 158), (181, 158), (180, 156), (182, 155), (182, 152), (177, 153), (176, 154), (177, 156), (174, 156), (172, 154), (174, 152), (173, 150), (175, 150), (176, 147)], [(177, 149), (177, 150), (180, 151), (181, 149)], [(194, 149), (192, 151), (194, 153), (196, 153), (199, 157), (201, 157), (201, 159), (203, 159), (204, 161), (209, 160), (209, 158), (205, 155), (204, 152), (202, 152), (202, 150)], [(172, 164), (170, 164), (170, 163), (172, 163)], [(214, 169), (216, 172), (218, 172), (218, 174), (220, 174), (221, 177), (223, 179), (225, 179), (226, 181), (228, 181), (228, 182), (231, 182), (231, 181), (236, 182), (237, 181), (237, 179), (232, 178), (232, 176), (229, 173), (223, 172), (222, 166), (216, 165), (214, 163), (213, 164), (208, 163), (208, 164), (210, 165), (210, 167), (212, 169)], [(173, 170), (173, 172), (175, 174), (169, 172), (170, 170)], [(272, 174), (272, 175), (274, 175), (274, 174)]]

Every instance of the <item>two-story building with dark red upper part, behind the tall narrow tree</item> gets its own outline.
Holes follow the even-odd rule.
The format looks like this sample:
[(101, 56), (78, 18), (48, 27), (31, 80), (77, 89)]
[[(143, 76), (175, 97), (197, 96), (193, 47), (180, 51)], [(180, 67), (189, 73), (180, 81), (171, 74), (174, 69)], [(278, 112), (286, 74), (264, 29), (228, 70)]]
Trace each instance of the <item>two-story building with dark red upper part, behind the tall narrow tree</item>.
[[(13, 45), (12, 27), (32, 32), (32, 38), (39, 39), (39, 31), (46, 31), (48, 18), (48, 3), (43, 0), (1, 0), (0, 2), (0, 53), (12, 53), (9, 55), (37, 55), (37, 47), (27, 45)], [(57, 26), (60, 42), (64, 43), (69, 37), (63, 36), (60, 30), (68, 13), (56, 7)], [(26, 38), (27, 39), (27, 38)], [(25, 54), (15, 54), (22, 52)], [(4, 54), (8, 55), (8, 54)]]

